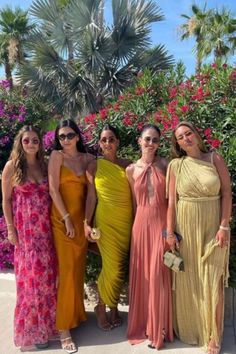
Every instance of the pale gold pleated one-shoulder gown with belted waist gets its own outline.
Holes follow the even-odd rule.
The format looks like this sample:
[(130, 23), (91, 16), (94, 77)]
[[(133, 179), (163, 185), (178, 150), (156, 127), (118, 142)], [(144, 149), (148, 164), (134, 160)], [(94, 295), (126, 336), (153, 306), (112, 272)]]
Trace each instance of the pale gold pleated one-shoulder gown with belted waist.
[(174, 159), (170, 169), (176, 176), (176, 231), (183, 237), (180, 253), (185, 265), (175, 276), (175, 332), (183, 342), (206, 349), (210, 339), (221, 341), (216, 307), (219, 288), (224, 289), (228, 280), (228, 248), (220, 248), (215, 239), (220, 179), (212, 163), (191, 157)]

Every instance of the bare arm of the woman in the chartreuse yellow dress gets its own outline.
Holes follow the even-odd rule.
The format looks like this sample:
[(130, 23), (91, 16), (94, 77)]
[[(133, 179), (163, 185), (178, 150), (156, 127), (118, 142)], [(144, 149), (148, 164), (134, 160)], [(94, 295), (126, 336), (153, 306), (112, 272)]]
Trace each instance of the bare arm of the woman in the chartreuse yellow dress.
[(85, 220), (84, 220), (85, 237), (91, 242), (94, 242), (94, 240), (91, 239), (90, 234), (92, 230), (93, 216), (97, 204), (97, 193), (96, 193), (96, 188), (94, 183), (96, 170), (97, 170), (97, 161), (92, 160), (89, 163), (88, 168), (86, 170), (87, 198), (85, 204)]

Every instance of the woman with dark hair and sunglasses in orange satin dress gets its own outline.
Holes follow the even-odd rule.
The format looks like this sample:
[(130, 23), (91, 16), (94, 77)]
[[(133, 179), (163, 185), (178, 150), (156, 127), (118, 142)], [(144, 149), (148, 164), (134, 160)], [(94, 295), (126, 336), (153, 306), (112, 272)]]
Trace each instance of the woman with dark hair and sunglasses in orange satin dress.
[(55, 150), (49, 160), (49, 190), (53, 200), (51, 222), (58, 259), (56, 327), (62, 348), (77, 351), (70, 329), (86, 320), (84, 272), (87, 240), (83, 220), (86, 199), (85, 171), (93, 156), (86, 153), (80, 130), (63, 120), (55, 131)]

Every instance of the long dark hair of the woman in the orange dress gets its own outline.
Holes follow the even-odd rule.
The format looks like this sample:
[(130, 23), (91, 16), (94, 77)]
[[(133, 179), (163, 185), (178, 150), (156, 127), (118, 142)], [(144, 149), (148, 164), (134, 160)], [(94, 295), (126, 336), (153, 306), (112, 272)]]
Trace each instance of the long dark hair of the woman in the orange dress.
[(60, 123), (56, 127), (55, 140), (54, 140), (54, 150), (61, 150), (62, 149), (58, 135), (59, 135), (59, 130), (64, 127), (69, 127), (71, 129), (73, 129), (74, 132), (79, 136), (79, 140), (76, 143), (77, 150), (79, 152), (87, 152), (87, 150), (84, 146), (84, 143), (83, 143), (81, 131), (80, 131), (78, 125), (72, 119), (63, 119), (60, 121)]

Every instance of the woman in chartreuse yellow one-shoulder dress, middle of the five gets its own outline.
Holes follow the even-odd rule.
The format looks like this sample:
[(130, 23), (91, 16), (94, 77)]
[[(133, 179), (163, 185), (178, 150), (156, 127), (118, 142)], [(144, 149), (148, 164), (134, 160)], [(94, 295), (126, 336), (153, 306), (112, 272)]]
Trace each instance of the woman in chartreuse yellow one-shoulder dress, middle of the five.
[[(105, 331), (122, 324), (117, 305), (128, 268), (132, 224), (132, 199), (125, 174), (130, 161), (117, 157), (118, 145), (116, 129), (105, 126), (99, 140), (103, 158), (92, 161), (87, 170), (85, 235), (91, 241), (91, 227), (101, 231), (97, 244), (102, 270), (98, 278), (99, 303), (94, 310), (98, 326)], [(106, 305), (111, 310), (109, 318)]]

